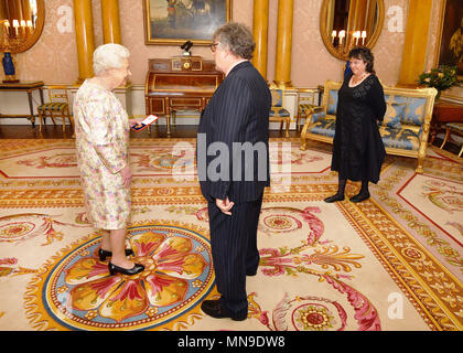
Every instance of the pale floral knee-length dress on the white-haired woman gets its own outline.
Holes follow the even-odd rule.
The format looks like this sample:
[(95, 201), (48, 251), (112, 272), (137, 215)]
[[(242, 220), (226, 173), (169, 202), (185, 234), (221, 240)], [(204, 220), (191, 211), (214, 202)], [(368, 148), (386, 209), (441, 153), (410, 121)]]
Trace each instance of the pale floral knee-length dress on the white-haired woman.
[(131, 206), (120, 173), (129, 163), (127, 113), (111, 92), (87, 79), (76, 94), (74, 119), (88, 218), (100, 229), (125, 228)]

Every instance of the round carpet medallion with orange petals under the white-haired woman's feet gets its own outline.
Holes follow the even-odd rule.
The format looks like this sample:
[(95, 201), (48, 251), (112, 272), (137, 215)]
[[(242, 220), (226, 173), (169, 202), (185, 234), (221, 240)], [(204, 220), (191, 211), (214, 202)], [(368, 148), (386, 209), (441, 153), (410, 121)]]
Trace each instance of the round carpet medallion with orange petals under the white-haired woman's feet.
[(133, 260), (146, 267), (137, 276), (108, 276), (107, 263), (97, 256), (98, 234), (54, 256), (25, 295), (31, 319), (50, 315), (36, 319), (34, 325), (134, 330), (166, 325), (182, 315), (192, 320), (214, 284), (208, 239), (189, 227), (168, 224), (149, 221), (129, 228)]

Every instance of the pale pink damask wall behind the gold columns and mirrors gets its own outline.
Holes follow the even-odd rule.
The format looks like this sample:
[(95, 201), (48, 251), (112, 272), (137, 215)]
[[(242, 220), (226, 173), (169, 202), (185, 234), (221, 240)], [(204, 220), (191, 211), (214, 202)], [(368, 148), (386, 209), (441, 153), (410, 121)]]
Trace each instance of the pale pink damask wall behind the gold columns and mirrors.
[[(143, 0), (119, 0), (122, 44), (131, 52), (132, 84), (143, 85), (150, 57), (170, 57), (179, 55), (176, 46), (146, 45), (143, 30)], [(439, 13), (442, 0), (433, 0), (432, 25), (430, 29), (427, 68), (434, 65)], [(71, 32), (60, 33), (58, 24), (65, 17), (58, 12), (63, 6), (73, 8), (72, 0), (46, 0), (46, 18), (43, 34), (28, 52), (15, 56), (18, 75), (21, 79), (43, 79), (46, 84), (73, 84), (78, 76), (77, 50), (74, 28)], [(320, 9), (322, 0), (294, 0), (294, 25), (292, 47), (292, 83), (297, 87), (314, 87), (326, 79), (342, 79), (344, 63), (333, 57), (325, 49), (320, 36)], [(408, 1), (385, 0), (385, 9), (399, 6), (403, 10), (403, 30), (406, 29)], [(93, 1), (95, 44), (103, 44), (100, 1)], [(273, 79), (276, 62), (278, 0), (270, 0), (269, 13), (269, 82)], [(74, 21), (74, 17), (71, 17)], [(252, 25), (252, 1), (233, 0), (233, 20)], [(388, 31), (389, 18), (379, 40), (374, 47), (376, 72), (387, 85), (395, 85), (399, 78), (403, 53), (403, 32)], [(195, 55), (209, 57), (207, 47), (193, 47)]]

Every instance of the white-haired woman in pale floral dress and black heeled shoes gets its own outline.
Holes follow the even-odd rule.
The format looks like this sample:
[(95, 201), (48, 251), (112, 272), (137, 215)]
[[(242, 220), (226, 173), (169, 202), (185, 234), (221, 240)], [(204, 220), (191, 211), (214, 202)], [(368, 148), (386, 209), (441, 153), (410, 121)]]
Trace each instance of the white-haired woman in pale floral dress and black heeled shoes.
[(134, 264), (125, 249), (130, 218), (132, 174), (129, 165), (130, 126), (112, 89), (130, 77), (129, 51), (119, 44), (95, 50), (95, 77), (86, 79), (74, 101), (77, 162), (84, 186), (88, 218), (105, 229), (98, 252), (101, 261), (111, 256), (109, 272), (136, 275), (143, 266)]

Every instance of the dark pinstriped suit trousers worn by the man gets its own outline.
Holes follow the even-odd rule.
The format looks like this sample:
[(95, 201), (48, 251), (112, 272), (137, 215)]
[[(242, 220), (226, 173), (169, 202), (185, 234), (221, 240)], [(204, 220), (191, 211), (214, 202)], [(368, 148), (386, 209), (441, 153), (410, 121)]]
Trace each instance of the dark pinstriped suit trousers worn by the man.
[(246, 275), (254, 275), (259, 266), (257, 226), (262, 196), (256, 201), (236, 203), (226, 215), (208, 203), (211, 249), (220, 306), (234, 315), (247, 314)]

